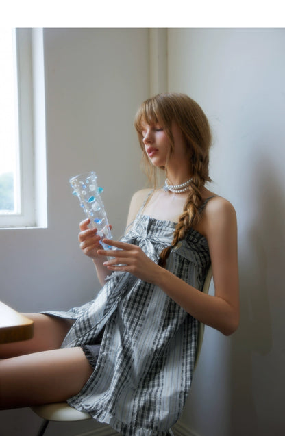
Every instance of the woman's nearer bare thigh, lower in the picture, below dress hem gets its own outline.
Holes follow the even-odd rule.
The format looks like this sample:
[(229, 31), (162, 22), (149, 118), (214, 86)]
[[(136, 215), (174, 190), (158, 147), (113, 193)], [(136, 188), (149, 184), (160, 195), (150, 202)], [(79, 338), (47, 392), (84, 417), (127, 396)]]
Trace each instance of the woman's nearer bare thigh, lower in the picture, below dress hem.
[(92, 374), (81, 348), (36, 352), (0, 361), (0, 409), (65, 401)]

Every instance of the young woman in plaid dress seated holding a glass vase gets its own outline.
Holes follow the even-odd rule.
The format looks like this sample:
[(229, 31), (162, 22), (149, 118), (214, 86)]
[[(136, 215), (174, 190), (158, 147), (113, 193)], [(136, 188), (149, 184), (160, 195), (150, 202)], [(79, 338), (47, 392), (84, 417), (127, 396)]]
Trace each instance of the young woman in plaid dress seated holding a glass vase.
[[(135, 126), (164, 188), (134, 194), (124, 238), (106, 240), (116, 252), (80, 224), (103, 288), (82, 307), (29, 315), (34, 338), (1, 346), (2, 408), (68, 400), (123, 435), (165, 435), (190, 389), (198, 321), (225, 335), (238, 326), (236, 214), (205, 187), (205, 114), (184, 94), (160, 94)], [(210, 264), (214, 296), (200, 292)]]

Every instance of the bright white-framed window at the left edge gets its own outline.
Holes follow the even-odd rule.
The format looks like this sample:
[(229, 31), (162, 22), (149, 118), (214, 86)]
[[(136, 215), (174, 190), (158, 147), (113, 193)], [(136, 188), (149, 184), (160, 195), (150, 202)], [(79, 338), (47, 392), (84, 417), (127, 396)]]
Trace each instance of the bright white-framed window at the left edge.
[(0, 227), (47, 227), (42, 29), (0, 32)]

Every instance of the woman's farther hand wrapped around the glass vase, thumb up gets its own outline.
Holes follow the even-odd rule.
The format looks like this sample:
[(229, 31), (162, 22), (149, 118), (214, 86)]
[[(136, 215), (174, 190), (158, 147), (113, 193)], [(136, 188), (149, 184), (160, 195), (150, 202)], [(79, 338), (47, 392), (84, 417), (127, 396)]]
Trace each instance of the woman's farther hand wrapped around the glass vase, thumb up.
[[(98, 255), (97, 251), (102, 248), (100, 244), (101, 237), (97, 235), (97, 229), (89, 229), (88, 224), (90, 219), (80, 222), (79, 229), (80, 233), (78, 235), (79, 247), (82, 249), (84, 255), (90, 257), (91, 259), (99, 259), (101, 256)], [(111, 229), (112, 226), (110, 226)]]

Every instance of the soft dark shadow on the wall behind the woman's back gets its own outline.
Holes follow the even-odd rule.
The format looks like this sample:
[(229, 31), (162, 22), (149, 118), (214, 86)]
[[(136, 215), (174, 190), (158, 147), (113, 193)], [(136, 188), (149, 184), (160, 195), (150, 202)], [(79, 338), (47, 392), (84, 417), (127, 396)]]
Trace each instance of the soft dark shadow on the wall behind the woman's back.
[(232, 341), (231, 436), (282, 436), (285, 428), (284, 178), (270, 159), (260, 157), (253, 168), (245, 205), (250, 225), (240, 235), (241, 318)]

